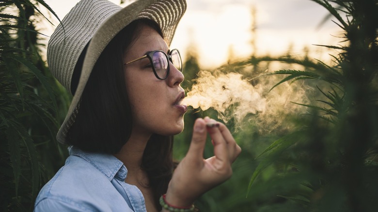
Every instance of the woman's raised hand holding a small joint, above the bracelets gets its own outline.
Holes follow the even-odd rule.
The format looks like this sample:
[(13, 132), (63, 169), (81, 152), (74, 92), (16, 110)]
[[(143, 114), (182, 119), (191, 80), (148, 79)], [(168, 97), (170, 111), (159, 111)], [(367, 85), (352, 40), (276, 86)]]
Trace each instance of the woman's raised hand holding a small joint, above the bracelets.
[[(218, 123), (219, 127), (207, 127)], [(204, 159), (206, 134), (214, 145), (214, 156)], [(241, 152), (227, 127), (208, 117), (197, 119), (189, 151), (173, 173), (166, 201), (177, 207), (190, 206), (194, 200), (232, 175), (232, 163)]]

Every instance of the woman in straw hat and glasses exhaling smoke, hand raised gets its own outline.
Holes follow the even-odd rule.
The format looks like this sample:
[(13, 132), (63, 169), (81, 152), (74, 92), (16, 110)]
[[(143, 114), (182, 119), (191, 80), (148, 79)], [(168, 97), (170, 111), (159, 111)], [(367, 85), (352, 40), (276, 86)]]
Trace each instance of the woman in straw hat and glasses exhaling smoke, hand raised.
[[(50, 38), (47, 62), (74, 94), (59, 142), (70, 156), (42, 188), (35, 211), (193, 211), (227, 180), (240, 147), (224, 124), (194, 123), (173, 172), (172, 136), (187, 106), (182, 61), (169, 49), (184, 0), (138, 0), (121, 9), (81, 0)], [(206, 134), (214, 155), (205, 160)]]

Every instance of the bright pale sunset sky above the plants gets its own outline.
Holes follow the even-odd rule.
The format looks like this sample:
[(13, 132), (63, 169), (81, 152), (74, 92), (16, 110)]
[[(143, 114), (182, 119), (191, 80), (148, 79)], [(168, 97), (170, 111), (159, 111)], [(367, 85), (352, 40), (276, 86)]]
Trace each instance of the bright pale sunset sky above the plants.
[[(79, 0), (45, 1), (62, 19)], [(131, 1), (126, 0), (121, 6)], [(290, 49), (293, 55), (299, 56), (303, 55), (305, 46), (310, 49), (310, 56), (324, 60), (328, 52), (315, 45), (335, 45), (340, 41), (336, 36), (341, 31), (331, 21), (334, 18), (319, 27), (328, 12), (311, 0), (187, 0), (187, 3), (171, 48), (180, 49), (183, 60), (189, 48), (196, 50), (205, 69), (226, 63), (230, 54), (237, 60), (253, 52), (274, 56)], [(251, 30), (253, 23), (255, 33)], [(44, 33), (51, 35), (53, 28)]]

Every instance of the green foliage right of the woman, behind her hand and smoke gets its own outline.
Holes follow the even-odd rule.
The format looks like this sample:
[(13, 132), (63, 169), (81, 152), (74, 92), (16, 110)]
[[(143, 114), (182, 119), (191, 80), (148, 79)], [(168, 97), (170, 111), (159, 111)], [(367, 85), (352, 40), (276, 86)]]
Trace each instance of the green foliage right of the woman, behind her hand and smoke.
[[(252, 56), (218, 68), (242, 73), (252, 78), (253, 85), (271, 76), (283, 76), (271, 91), (283, 83), (300, 81), (314, 93), (307, 96), (310, 103), (292, 103), (307, 108), (306, 114), (292, 114), (295, 119), (286, 119), (284, 124), (296, 124), (294, 130), (263, 135), (255, 130), (256, 123), (248, 123), (234, 134), (242, 147), (233, 165), (234, 174), (196, 202), (201, 211), (378, 210), (378, 2), (314, 1), (325, 7), (330, 12), (327, 18), (335, 17), (335, 23), (344, 30), (342, 45), (321, 45), (340, 52), (331, 55), (332, 65), (307, 56), (299, 59), (285, 55)], [(286, 67), (264, 72), (271, 62)], [(293, 66), (296, 68), (291, 69)], [(217, 116), (211, 109), (195, 110), (185, 119), (194, 120), (189, 116), (198, 114)], [(176, 158), (185, 155), (191, 125), (186, 122), (184, 134), (175, 141), (175, 151), (179, 150)], [(233, 129), (232, 121), (227, 125)], [(183, 140), (185, 147), (180, 144)], [(212, 156), (211, 150), (208, 142), (205, 157)]]

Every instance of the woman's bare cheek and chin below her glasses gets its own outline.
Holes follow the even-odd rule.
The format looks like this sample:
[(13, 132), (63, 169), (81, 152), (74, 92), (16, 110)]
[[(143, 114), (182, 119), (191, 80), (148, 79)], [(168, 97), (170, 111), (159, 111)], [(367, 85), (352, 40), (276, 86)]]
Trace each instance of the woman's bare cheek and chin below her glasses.
[(133, 77), (126, 79), (126, 90), (134, 127), (160, 135), (180, 133), (184, 127), (183, 117), (173, 108), (166, 81), (149, 76)]

